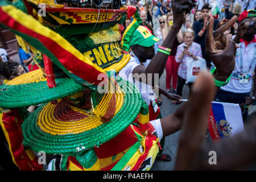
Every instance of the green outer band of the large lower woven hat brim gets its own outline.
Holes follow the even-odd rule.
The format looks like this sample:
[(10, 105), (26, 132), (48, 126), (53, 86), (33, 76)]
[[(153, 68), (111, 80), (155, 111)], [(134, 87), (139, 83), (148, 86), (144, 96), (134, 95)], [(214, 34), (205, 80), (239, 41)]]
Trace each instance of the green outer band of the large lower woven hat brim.
[(137, 117), (142, 106), (139, 90), (130, 82), (116, 77), (118, 85), (126, 86), (123, 105), (114, 118), (108, 123), (84, 131), (80, 134), (51, 135), (38, 126), (38, 115), (46, 104), (36, 109), (22, 124), (23, 144), (34, 151), (45, 151), (49, 154), (75, 154), (85, 149), (91, 149), (116, 137), (125, 130)]

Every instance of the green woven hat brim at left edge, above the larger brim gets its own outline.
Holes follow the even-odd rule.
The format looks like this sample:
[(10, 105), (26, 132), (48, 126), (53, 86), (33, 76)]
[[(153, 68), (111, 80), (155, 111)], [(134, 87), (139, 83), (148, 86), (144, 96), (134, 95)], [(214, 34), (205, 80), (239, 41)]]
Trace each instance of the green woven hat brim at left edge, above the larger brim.
[(56, 87), (49, 88), (47, 81), (0, 86), (0, 107), (16, 108), (38, 105), (80, 92), (85, 87), (71, 78), (56, 79)]

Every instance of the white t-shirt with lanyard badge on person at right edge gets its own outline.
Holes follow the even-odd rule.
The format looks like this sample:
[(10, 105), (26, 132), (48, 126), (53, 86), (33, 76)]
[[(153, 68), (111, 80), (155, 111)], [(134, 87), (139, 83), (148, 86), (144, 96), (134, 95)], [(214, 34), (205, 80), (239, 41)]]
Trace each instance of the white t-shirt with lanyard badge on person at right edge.
[[(240, 48), (237, 48), (236, 66), (232, 72), (232, 77), (229, 83), (226, 86), (222, 86), (221, 89), (233, 93), (247, 93), (251, 91), (251, 86), (253, 84), (252, 77), (256, 65), (256, 42), (252, 42), (247, 46), (245, 46), (244, 42), (241, 42), (239, 46)], [(241, 73), (247, 78), (247, 82), (240, 83)]]

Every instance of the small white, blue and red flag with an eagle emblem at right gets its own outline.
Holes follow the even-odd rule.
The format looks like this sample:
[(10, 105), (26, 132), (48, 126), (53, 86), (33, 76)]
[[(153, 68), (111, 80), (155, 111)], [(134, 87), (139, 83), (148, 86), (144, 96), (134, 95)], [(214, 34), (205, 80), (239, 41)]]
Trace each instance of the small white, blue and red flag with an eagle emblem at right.
[(232, 137), (242, 131), (243, 119), (240, 106), (232, 103), (212, 102), (208, 130), (212, 140)]

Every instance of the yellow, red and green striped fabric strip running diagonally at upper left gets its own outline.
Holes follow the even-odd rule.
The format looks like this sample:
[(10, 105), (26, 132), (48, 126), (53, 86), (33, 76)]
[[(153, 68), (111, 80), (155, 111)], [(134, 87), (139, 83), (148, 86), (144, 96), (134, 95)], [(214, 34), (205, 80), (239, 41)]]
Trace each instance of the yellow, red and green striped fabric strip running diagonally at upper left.
[[(105, 73), (102, 68), (91, 63), (86, 57), (56, 32), (44, 27), (12, 5), (0, 7), (0, 23), (22, 37), (31, 46), (44, 53), (59, 68), (82, 85), (98, 85), (97, 76)], [(70, 61), (72, 60), (72, 61)], [(90, 74), (84, 74), (89, 72)], [(108, 80), (108, 76), (106, 79)]]

